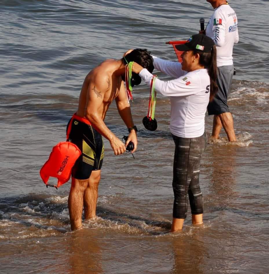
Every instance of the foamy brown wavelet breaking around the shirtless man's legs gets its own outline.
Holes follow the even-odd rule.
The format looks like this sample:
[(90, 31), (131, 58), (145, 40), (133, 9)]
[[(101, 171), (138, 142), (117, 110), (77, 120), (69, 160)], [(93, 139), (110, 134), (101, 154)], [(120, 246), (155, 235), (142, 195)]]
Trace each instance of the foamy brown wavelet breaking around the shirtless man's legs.
[[(29, 200), (28, 198), (34, 198)], [(0, 211), (0, 226), (5, 227), (1, 239), (26, 239), (33, 237), (52, 237), (70, 231), (68, 196), (51, 196), (40, 201), (37, 197), (22, 197), (22, 203), (12, 201), (4, 211)], [(114, 195), (101, 196), (98, 205), (107, 204)], [(15, 202), (15, 203), (14, 203)], [(84, 213), (84, 212), (83, 212)], [(83, 214), (84, 215), (84, 214)], [(83, 221), (83, 229), (118, 231), (131, 235), (159, 235), (170, 229), (167, 220), (143, 220), (140, 216), (99, 210), (96, 218)]]

